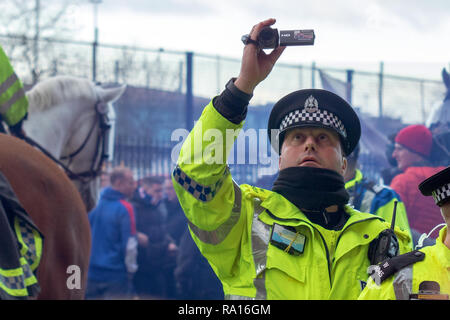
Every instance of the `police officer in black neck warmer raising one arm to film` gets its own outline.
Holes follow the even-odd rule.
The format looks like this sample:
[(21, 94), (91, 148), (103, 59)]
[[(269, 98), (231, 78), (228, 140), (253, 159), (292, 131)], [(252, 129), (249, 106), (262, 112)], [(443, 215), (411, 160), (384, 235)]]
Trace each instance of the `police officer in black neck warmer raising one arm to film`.
[[(285, 49), (266, 54), (254, 44), (274, 23), (253, 27), (238, 78), (205, 107), (181, 148), (174, 188), (226, 298), (356, 299), (367, 280), (370, 243), (389, 224), (346, 205), (345, 155), (361, 132), (351, 106), (313, 89), (275, 104), (268, 133), (280, 173), (272, 190), (237, 185), (221, 158), (232, 147), (225, 137), (242, 128), (253, 90)], [(405, 252), (409, 237), (397, 232)]]

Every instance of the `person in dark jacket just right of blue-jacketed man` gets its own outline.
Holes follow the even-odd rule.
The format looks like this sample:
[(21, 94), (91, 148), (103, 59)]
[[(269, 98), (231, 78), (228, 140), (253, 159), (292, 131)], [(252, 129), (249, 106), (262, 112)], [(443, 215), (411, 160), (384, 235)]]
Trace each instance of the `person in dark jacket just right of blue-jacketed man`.
[(140, 298), (170, 298), (170, 275), (175, 266), (177, 246), (165, 228), (160, 203), (163, 197), (163, 178), (150, 176), (132, 198), (136, 210), (136, 227), (145, 240), (139, 242), (139, 269), (134, 287)]

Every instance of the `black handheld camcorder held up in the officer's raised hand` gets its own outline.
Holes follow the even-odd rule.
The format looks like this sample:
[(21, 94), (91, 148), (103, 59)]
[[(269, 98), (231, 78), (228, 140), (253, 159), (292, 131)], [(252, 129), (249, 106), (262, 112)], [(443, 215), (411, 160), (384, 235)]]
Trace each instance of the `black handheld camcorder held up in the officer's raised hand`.
[(242, 36), (244, 44), (254, 43), (261, 49), (274, 49), (278, 46), (308, 46), (314, 45), (314, 30), (281, 30), (272, 29), (271, 27), (263, 28), (258, 39), (255, 41), (250, 39), (248, 34)]

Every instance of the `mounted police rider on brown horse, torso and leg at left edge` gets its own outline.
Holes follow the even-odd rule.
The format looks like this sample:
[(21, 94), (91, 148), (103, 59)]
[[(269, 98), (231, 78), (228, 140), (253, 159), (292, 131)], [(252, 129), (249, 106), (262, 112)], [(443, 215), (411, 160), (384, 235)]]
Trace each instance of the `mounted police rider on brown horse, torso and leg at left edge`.
[[(12, 134), (24, 137), (22, 121), (27, 110), (23, 85), (0, 46), (0, 132), (6, 133), (3, 120)], [(1, 171), (0, 234), (0, 300), (36, 297), (40, 291), (36, 274), (42, 255), (42, 234)]]

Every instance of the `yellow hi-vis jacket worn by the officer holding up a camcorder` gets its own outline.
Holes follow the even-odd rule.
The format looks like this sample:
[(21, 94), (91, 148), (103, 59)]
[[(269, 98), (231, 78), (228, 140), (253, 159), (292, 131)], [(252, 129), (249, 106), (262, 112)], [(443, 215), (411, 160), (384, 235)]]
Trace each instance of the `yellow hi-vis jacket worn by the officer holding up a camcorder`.
[[(346, 206), (350, 218), (344, 228), (325, 230), (280, 194), (237, 185), (225, 160), (232, 143), (225, 140), (242, 126), (209, 103), (184, 142), (172, 176), (191, 235), (221, 280), (225, 297), (358, 298), (368, 278), (369, 243), (389, 223)], [(295, 229), (304, 240), (301, 254), (273, 245), (276, 225)], [(400, 251), (408, 251), (407, 233), (396, 231)]]

